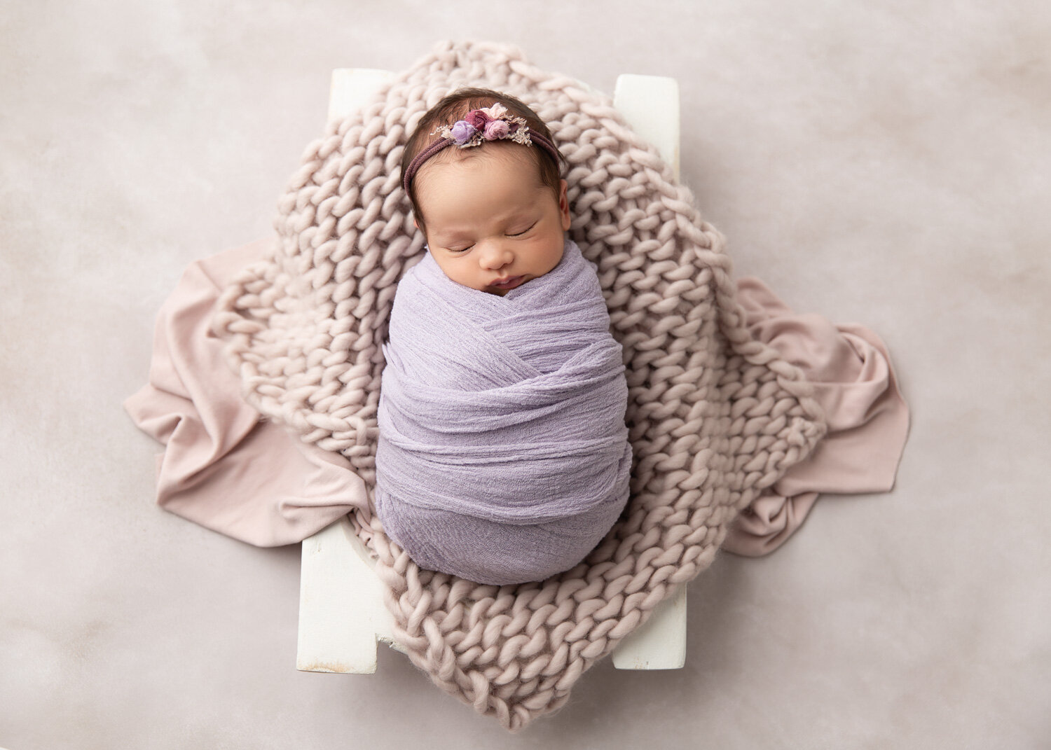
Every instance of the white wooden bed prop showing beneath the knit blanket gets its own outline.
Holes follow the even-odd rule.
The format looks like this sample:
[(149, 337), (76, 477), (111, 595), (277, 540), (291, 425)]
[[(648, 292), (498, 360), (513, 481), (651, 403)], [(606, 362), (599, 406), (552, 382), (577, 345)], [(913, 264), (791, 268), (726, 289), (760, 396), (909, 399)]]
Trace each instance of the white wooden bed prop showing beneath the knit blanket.
[[(392, 78), (394, 74), (387, 70), (333, 70), (329, 121), (363, 106)], [(678, 179), (678, 82), (622, 75), (613, 101), (635, 131), (657, 147)], [(384, 604), (374, 566), (346, 517), (303, 542), (296, 669), (371, 674), (376, 671), (377, 641), (404, 652), (394, 641), (394, 619)], [(681, 668), (686, 661), (686, 586), (661, 602), (642, 627), (617, 645), (612, 658), (618, 669)]]

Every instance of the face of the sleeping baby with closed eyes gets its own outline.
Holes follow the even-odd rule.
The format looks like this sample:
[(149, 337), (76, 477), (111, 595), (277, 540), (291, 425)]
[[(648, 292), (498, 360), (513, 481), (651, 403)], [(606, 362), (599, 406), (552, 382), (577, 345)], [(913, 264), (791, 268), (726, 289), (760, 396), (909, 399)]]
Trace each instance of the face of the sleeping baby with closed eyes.
[(570, 205), (564, 180), (557, 201), (540, 183), (530, 147), (494, 143), (482, 148), (489, 151), (431, 159), (417, 174), (416, 200), (427, 223), (427, 245), (442, 272), (465, 287), (502, 297), (562, 259)]

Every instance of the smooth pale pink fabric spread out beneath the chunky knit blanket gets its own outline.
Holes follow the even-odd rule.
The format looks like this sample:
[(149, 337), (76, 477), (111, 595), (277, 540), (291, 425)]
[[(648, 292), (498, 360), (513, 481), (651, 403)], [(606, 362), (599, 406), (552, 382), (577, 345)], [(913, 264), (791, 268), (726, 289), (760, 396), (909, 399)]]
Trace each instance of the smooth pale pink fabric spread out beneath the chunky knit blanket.
[[(300, 542), (354, 507), (364, 480), (339, 454), (305, 443), (262, 420), (240, 395), (240, 378), (210, 329), (214, 304), (248, 264), (266, 257), (259, 239), (194, 261), (157, 317), (148, 382), (124, 401), (140, 430), (164, 444), (157, 455), (157, 502), (194, 523), (259, 546)], [(753, 335), (815, 382), (828, 434), (742, 513), (723, 548), (772, 551), (820, 493), (889, 491), (909, 414), (886, 346), (868, 329), (794, 313), (758, 278), (738, 280)]]

